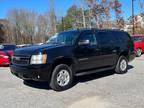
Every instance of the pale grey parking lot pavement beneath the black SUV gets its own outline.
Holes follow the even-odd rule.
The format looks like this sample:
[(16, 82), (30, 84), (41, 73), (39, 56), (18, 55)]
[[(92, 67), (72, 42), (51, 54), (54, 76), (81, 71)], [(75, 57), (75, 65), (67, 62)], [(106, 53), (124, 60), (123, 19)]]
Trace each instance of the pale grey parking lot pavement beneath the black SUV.
[(144, 108), (144, 56), (129, 64), (128, 73), (111, 71), (75, 78), (64, 92), (47, 83), (24, 83), (0, 67), (0, 108)]

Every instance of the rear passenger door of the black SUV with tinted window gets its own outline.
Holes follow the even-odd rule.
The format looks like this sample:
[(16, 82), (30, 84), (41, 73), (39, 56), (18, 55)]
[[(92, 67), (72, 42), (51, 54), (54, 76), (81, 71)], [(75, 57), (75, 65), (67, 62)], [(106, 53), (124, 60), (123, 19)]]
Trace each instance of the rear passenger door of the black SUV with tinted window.
[(101, 31), (96, 33), (98, 46), (100, 48), (101, 67), (111, 67), (117, 60), (116, 38), (111, 32)]

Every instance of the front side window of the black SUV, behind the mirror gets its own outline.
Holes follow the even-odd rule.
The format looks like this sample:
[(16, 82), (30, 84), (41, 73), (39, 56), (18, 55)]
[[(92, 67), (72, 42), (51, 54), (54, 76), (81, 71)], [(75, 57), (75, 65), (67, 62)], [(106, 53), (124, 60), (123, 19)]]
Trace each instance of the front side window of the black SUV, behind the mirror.
[(83, 35), (81, 35), (79, 41), (83, 41), (83, 40), (89, 40), (90, 45), (97, 44), (96, 37), (93, 33), (84, 33)]

